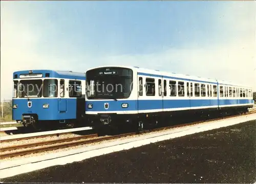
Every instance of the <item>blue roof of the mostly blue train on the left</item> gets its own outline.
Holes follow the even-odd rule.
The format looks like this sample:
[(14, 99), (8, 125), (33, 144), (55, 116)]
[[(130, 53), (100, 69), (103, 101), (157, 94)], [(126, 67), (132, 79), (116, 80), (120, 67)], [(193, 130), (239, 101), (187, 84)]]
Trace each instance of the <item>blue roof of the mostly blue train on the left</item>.
[(29, 72), (32, 71), (33, 74), (42, 74), (43, 77), (45, 77), (46, 73), (50, 74), (50, 77), (54, 78), (66, 78), (66, 79), (80, 79), (80, 80), (85, 80), (86, 75), (84, 73), (79, 73), (79, 72), (72, 72), (72, 71), (55, 71), (55, 70), (25, 70), (25, 71), (16, 71), (13, 73), (13, 78), (14, 75), (19, 75), (20, 74), (29, 74)]

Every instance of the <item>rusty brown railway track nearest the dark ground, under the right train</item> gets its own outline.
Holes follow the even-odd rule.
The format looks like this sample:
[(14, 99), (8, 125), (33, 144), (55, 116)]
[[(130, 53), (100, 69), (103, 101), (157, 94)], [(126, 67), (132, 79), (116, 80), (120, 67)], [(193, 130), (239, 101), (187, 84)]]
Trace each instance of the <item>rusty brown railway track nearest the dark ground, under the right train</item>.
[[(77, 146), (77, 145), (84, 145), (84, 144), (98, 143), (98, 142), (108, 141), (108, 140), (115, 140), (115, 139), (119, 139), (119, 138), (122, 138), (125, 136), (133, 136), (133, 135), (138, 135), (138, 134), (143, 134), (143, 133), (148, 133), (148, 132), (153, 132), (153, 131), (161, 131), (161, 130), (170, 129), (170, 128), (192, 126), (192, 125), (203, 124), (203, 123), (207, 123), (207, 122), (211, 122), (211, 121), (229, 119), (229, 118), (239, 117), (239, 116), (246, 116), (247, 114), (252, 114), (252, 113), (256, 113), (256, 112), (252, 111), (252, 112), (248, 112), (248, 113), (245, 113), (242, 115), (239, 114), (239, 115), (234, 115), (234, 116), (221, 117), (221, 118), (216, 118), (216, 119), (197, 121), (197, 122), (191, 122), (191, 123), (180, 124), (180, 125), (173, 125), (173, 126), (168, 126), (168, 127), (161, 127), (161, 128), (156, 128), (156, 129), (152, 129), (152, 130), (130, 132), (130, 133), (124, 133), (124, 134), (119, 134), (119, 135), (98, 137), (97, 134), (90, 134), (90, 135), (81, 135), (81, 136), (70, 137), (70, 138), (65, 138), (65, 139), (58, 139), (58, 140), (2, 147), (1, 152), (6, 152), (6, 153), (0, 154), (0, 158), (3, 159), (3, 158), (14, 157), (14, 156), (22, 156), (22, 155), (27, 155), (27, 154), (32, 154), (32, 153), (56, 150), (56, 149), (61, 149), (61, 148), (68, 148), (68, 147), (73, 147), (73, 146)], [(45, 146), (45, 145), (47, 145), (47, 146)], [(34, 148), (32, 148), (32, 147), (34, 147)], [(32, 149), (26, 149), (26, 148), (32, 148)], [(17, 149), (25, 149), (25, 150), (12, 152), (13, 150), (17, 150)], [(11, 152), (7, 152), (7, 151), (11, 151)]]

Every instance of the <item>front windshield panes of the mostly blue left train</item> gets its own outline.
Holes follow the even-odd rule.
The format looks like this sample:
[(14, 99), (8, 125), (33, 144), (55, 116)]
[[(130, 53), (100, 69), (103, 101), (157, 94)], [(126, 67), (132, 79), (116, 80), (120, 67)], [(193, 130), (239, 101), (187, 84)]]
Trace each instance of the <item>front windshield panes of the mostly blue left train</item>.
[(13, 98), (57, 97), (57, 79), (14, 81)]

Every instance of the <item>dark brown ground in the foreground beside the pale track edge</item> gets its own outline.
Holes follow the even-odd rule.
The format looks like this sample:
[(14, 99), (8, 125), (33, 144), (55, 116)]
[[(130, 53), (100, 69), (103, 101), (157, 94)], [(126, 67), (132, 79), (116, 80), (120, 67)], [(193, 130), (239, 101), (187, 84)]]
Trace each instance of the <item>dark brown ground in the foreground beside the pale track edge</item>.
[(256, 120), (191, 134), (3, 182), (255, 182)]

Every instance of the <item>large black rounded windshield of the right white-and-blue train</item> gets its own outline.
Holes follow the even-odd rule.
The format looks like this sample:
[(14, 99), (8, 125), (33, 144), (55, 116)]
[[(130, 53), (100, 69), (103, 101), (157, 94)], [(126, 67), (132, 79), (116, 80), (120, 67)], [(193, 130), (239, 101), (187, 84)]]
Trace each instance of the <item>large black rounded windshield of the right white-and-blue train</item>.
[(133, 89), (133, 71), (122, 67), (103, 67), (86, 74), (88, 99), (125, 99)]

